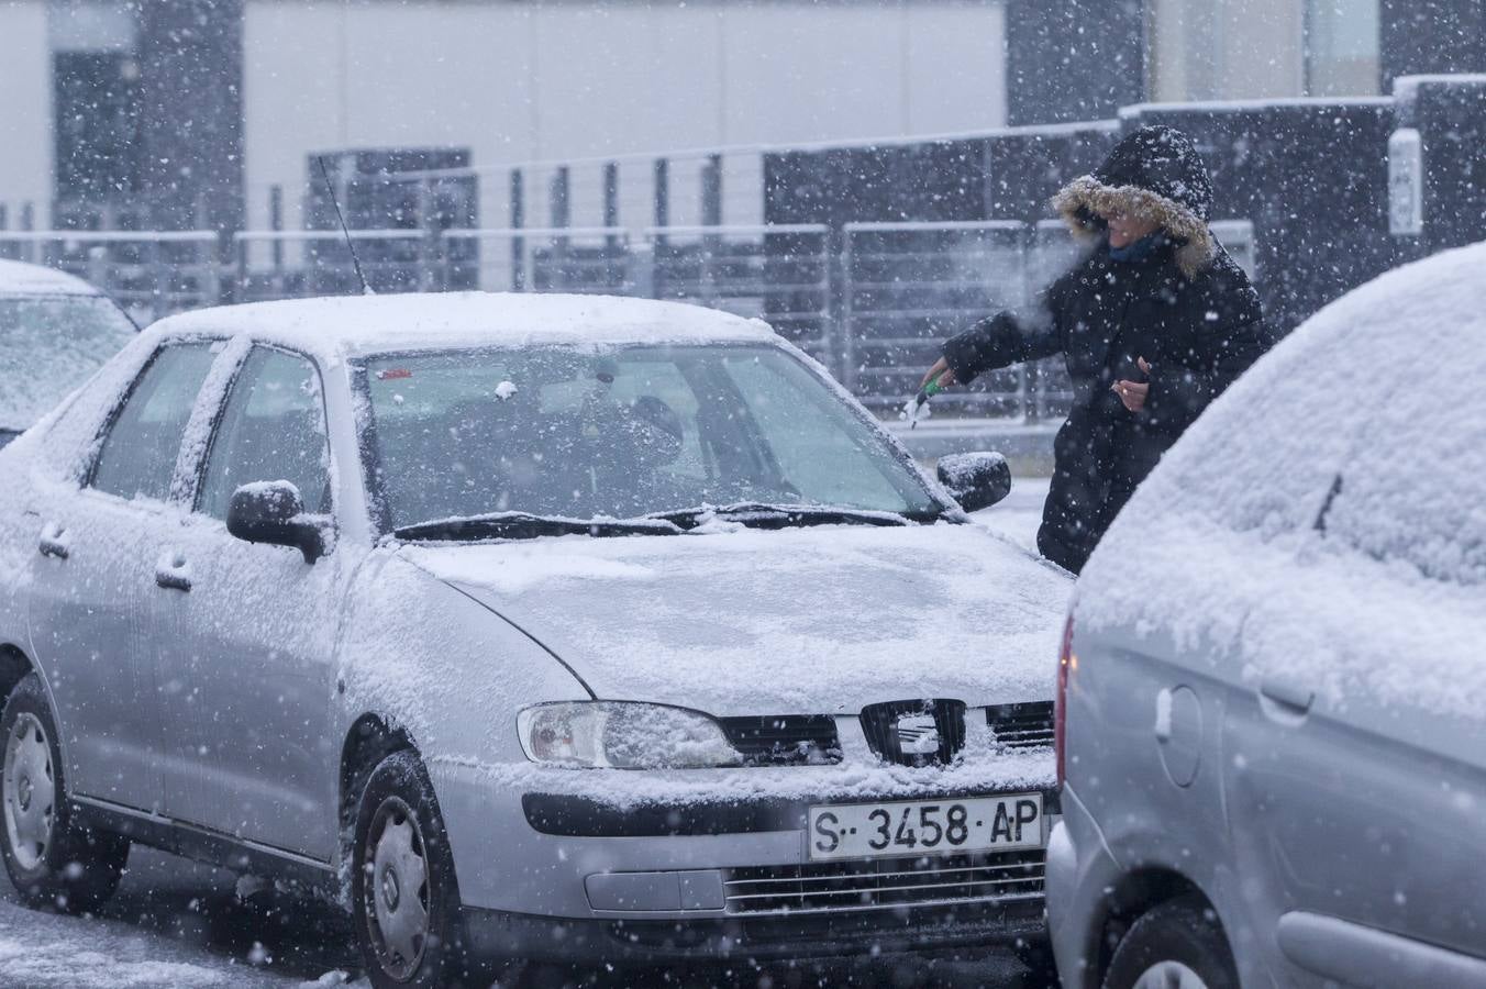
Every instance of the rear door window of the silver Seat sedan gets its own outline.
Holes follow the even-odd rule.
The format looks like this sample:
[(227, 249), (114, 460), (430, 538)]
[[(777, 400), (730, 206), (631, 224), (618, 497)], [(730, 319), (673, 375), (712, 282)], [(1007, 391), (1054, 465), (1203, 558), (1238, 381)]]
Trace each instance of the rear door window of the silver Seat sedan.
[(160, 349), (108, 428), (91, 486), (120, 497), (165, 499), (186, 422), (215, 359), (211, 343)]

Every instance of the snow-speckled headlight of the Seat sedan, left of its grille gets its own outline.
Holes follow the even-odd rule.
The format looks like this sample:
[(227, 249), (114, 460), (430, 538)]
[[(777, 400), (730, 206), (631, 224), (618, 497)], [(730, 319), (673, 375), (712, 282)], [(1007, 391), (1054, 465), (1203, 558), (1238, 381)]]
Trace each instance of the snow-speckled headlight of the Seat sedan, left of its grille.
[(528, 759), (554, 766), (704, 769), (743, 765), (743, 756), (713, 719), (664, 704), (538, 704), (516, 716), (516, 731)]

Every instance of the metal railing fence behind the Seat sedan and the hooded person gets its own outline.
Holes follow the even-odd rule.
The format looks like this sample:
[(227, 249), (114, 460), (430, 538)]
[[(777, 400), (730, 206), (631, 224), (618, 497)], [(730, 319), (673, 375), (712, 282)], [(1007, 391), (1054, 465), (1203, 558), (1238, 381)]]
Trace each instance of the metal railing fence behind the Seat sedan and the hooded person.
[[(1250, 275), (1248, 221), (1213, 224)], [(938, 345), (975, 319), (1027, 304), (1077, 257), (1061, 223), (849, 223), (352, 230), (376, 291), (608, 293), (691, 301), (767, 319), (868, 407), (889, 414)], [(223, 301), (360, 291), (351, 249), (328, 230), (0, 232), (0, 257), (49, 264), (108, 291), (138, 319)], [(944, 411), (1052, 419), (1067, 410), (1058, 359), (1008, 368)]]

